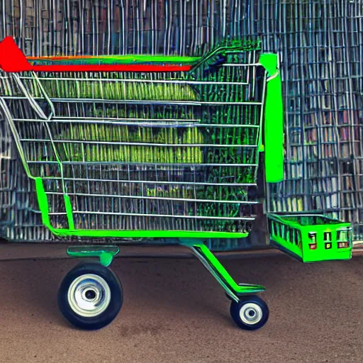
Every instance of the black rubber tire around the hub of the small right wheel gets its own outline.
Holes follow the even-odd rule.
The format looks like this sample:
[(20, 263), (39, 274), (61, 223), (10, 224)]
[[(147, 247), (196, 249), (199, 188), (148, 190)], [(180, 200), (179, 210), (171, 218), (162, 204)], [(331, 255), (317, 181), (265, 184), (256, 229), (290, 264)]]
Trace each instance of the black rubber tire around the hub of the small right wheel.
[[(259, 306), (259, 308), (261, 308), (262, 318), (258, 321), (258, 323), (247, 324), (241, 320), (240, 309), (247, 303), (254, 303)], [(267, 306), (267, 303), (265, 303), (259, 296), (245, 296), (240, 298), (240, 301), (238, 301), (238, 303), (236, 303), (235, 301), (231, 301), (230, 316), (233, 318), (233, 321), (238, 325), (240, 329), (257, 330), (259, 328), (262, 328), (262, 326), (267, 323), (267, 320), (269, 319), (269, 307)]]

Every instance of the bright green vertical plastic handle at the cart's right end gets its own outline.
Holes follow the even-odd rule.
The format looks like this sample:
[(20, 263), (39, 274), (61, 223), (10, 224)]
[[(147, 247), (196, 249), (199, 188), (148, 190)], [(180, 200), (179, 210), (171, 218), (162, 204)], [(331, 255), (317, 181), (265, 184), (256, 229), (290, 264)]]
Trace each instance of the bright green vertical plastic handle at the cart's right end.
[(284, 180), (284, 104), (278, 56), (264, 53), (259, 63), (267, 71), (264, 104), (264, 168), (267, 183)]

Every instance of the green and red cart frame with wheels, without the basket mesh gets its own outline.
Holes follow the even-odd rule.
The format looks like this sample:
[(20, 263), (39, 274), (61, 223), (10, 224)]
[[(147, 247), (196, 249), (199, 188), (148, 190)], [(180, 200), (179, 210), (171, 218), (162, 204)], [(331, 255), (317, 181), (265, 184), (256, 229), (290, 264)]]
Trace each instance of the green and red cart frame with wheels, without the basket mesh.
[[(5, 44), (4, 44), (5, 43)], [(189, 230), (84, 230), (77, 229), (74, 226), (74, 212), (72, 210), (72, 203), (69, 199), (69, 195), (65, 188), (65, 179), (63, 177), (64, 162), (62, 162), (60, 155), (57, 152), (55, 140), (52, 138), (50, 130), (50, 122), (55, 116), (55, 108), (52, 105), (52, 101), (48, 96), (47, 92), (43, 88), (42, 82), (36, 72), (64, 72), (69, 69), (71, 72), (84, 71), (84, 72), (96, 72), (99, 69), (102, 72), (114, 72), (114, 71), (125, 71), (127, 65), (108, 65), (110, 59), (102, 60), (106, 64), (104, 65), (62, 65), (62, 60), (55, 65), (48, 65), (47, 63), (52, 61), (48, 58), (34, 58), (26, 57), (16, 47), (13, 41), (6, 39), (0, 44), (0, 48), (4, 52), (4, 48), (8, 48), (13, 53), (14, 57), (9, 62), (9, 58), (0, 60), (0, 67), (13, 77), (13, 80), (18, 85), (19, 89), (25, 95), (25, 99), (28, 100), (33, 111), (40, 117), (39, 121), (43, 123), (50, 140), (47, 141), (52, 145), (52, 152), (55, 154), (55, 164), (58, 165), (61, 173), (62, 192), (64, 203), (65, 203), (65, 215), (67, 217), (68, 228), (55, 228), (50, 221), (50, 206), (48, 203), (47, 193), (44, 188), (43, 181), (50, 179), (42, 177), (40, 175), (34, 175), (30, 170), (29, 161), (26, 158), (26, 152), (23, 148), (23, 143), (28, 140), (22, 140), (18, 133), (16, 123), (13, 121), (11, 111), (6, 104), (6, 99), (9, 97), (0, 96), (0, 107), (4, 113), (6, 120), (9, 123), (13, 138), (18, 149), (21, 162), (23, 163), (26, 174), (30, 179), (35, 181), (36, 192), (38, 196), (38, 203), (40, 212), (43, 220), (43, 224), (49, 228), (49, 230), (60, 237), (82, 237), (82, 238), (165, 238), (174, 237), (179, 238), (181, 245), (189, 247), (194, 255), (202, 262), (202, 264), (208, 269), (208, 271), (215, 277), (220, 286), (225, 290), (225, 294), (231, 300), (230, 313), (235, 323), (242, 328), (247, 330), (255, 330), (261, 328), (264, 323), (267, 322), (269, 310), (267, 304), (257, 296), (252, 296), (265, 290), (264, 286), (252, 285), (252, 284), (237, 284), (233, 277), (228, 274), (222, 264), (216, 259), (213, 253), (208, 250), (208, 247), (203, 244), (203, 239), (206, 238), (242, 238), (246, 237), (248, 233), (226, 233), (218, 232), (213, 230), (208, 231), (189, 231)], [(232, 47), (218, 47), (209, 53), (206, 57), (201, 60), (195, 60), (194, 65), (190, 67), (187, 65), (181, 65), (181, 59), (172, 60), (169, 57), (163, 58), (162, 62), (172, 63), (173, 61), (179, 63), (178, 65), (146, 65), (140, 68), (139, 65), (133, 65), (130, 68), (130, 72), (175, 72), (175, 71), (189, 71), (192, 67), (199, 67), (202, 63), (205, 63), (209, 58), (214, 57), (220, 53), (223, 55), (228, 52), (243, 52), (250, 50), (251, 45), (233, 45)], [(0, 49), (1, 50), (1, 49)], [(3, 53), (4, 54), (4, 53)], [(18, 60), (18, 61), (15, 61)], [(77, 60), (74, 60), (76, 62)], [(136, 60), (138, 62), (140, 60)], [(143, 59), (145, 62), (145, 58)], [(151, 60), (152, 61), (152, 60)], [(154, 59), (155, 61), (155, 59)], [(189, 60), (190, 61), (190, 60)], [(194, 62), (194, 60), (191, 60)], [(33, 65), (30, 64), (33, 62)], [(123, 60), (121, 60), (121, 63)], [(66, 62), (67, 63), (67, 62)], [(82, 63), (82, 57), (81, 57)], [(242, 65), (240, 65), (241, 67)], [(253, 64), (254, 67), (262, 66), (265, 69), (265, 82), (267, 84), (266, 89), (262, 92), (262, 106), (261, 116), (259, 120), (259, 133), (257, 135), (257, 148), (256, 152), (264, 151), (265, 160), (265, 173), (267, 182), (278, 182), (283, 179), (283, 106), (281, 96), (281, 77), (279, 74), (279, 62), (277, 55), (272, 53), (262, 54), (259, 57), (259, 62)], [(67, 68), (68, 67), (68, 68)], [(161, 68), (160, 68), (161, 67)], [(165, 68), (167, 67), (167, 69)], [(189, 68), (188, 68), (189, 67)], [(214, 66), (213, 66), (214, 67)], [(179, 69), (178, 69), (179, 68)], [(42, 108), (37, 104), (35, 98), (30, 94), (26, 86), (23, 84), (21, 77), (18, 76), (18, 72), (27, 71), (33, 72), (32, 76), (34, 82), (38, 85), (40, 92), (50, 107), (49, 115), (45, 115)], [(189, 83), (191, 81), (189, 80)], [(217, 82), (218, 83), (218, 82)], [(11, 97), (10, 97), (11, 98)], [(178, 102), (177, 102), (178, 103)], [(202, 104), (202, 101), (197, 104)], [(195, 104), (195, 102), (191, 102)], [(222, 103), (220, 103), (222, 104)], [(225, 104), (235, 104), (235, 102), (225, 102)], [(242, 103), (241, 103), (242, 104)], [(254, 102), (250, 102), (254, 104)], [(255, 102), (257, 104), (257, 102)], [(262, 136), (262, 120), (264, 118), (264, 137)], [(240, 145), (245, 147), (246, 145)], [(249, 145), (247, 145), (248, 147)], [(258, 158), (257, 158), (258, 160)], [(211, 164), (214, 165), (214, 164)], [(216, 164), (218, 165), (218, 164)], [(221, 164), (223, 166), (225, 164)], [(255, 165), (257, 168), (258, 164)], [(230, 217), (223, 217), (222, 219), (230, 219)], [(233, 219), (233, 218), (232, 218)], [(253, 220), (254, 218), (239, 218), (240, 220)], [(67, 253), (72, 257), (98, 257), (101, 267), (96, 267), (92, 264), (82, 264), (80, 267), (73, 269), (65, 279), (62, 281), (60, 291), (58, 295), (58, 301), (60, 309), (65, 317), (74, 325), (80, 328), (94, 329), (102, 328), (104, 325), (110, 323), (113, 318), (116, 317), (122, 304), (122, 289), (118, 279), (114, 277), (108, 270), (113, 257), (118, 253), (118, 247), (116, 246), (105, 246), (105, 245), (91, 245), (91, 246), (70, 246), (67, 248)], [(87, 282), (88, 281), (88, 282)], [(87, 287), (88, 286), (88, 287)], [(111, 292), (113, 296), (119, 296), (118, 301), (114, 301), (108, 296), (109, 301), (113, 304), (113, 309), (104, 306), (102, 314), (99, 313), (100, 304), (105, 304), (105, 300), (102, 300), (102, 296), (107, 296), (112, 290), (110, 286), (113, 286), (114, 291)], [(88, 289), (84, 292), (84, 289)], [(71, 292), (69, 292), (71, 291)], [(95, 300), (96, 299), (96, 300)], [(97, 300), (98, 299), (98, 300)], [(77, 303), (78, 301), (78, 303)], [(78, 305), (77, 305), (78, 304)], [(111, 304), (111, 305), (112, 305)], [(84, 308), (88, 306), (88, 308)], [(91, 306), (91, 308), (89, 308)], [(83, 309), (83, 310), (82, 310)], [(93, 310), (92, 310), (93, 309)], [(111, 309), (111, 311), (110, 311)], [(96, 311), (98, 313), (96, 313)]]

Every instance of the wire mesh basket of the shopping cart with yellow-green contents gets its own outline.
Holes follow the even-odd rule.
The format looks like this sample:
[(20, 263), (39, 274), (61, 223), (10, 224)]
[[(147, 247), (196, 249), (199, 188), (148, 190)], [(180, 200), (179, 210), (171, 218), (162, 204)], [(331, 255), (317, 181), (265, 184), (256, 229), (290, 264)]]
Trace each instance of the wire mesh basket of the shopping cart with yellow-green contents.
[(249, 233), (264, 70), (257, 51), (225, 57), (218, 72), (4, 74), (4, 113), (28, 176), (45, 180), (52, 227), (69, 228), (67, 194), (79, 230)]

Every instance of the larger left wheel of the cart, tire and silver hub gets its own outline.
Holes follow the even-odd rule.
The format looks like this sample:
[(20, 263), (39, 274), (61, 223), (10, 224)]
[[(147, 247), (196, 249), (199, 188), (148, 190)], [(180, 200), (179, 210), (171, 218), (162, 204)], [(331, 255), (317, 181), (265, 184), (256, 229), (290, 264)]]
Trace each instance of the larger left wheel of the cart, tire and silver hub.
[(77, 328), (104, 328), (116, 318), (123, 291), (113, 272), (96, 263), (79, 264), (63, 279), (58, 305), (65, 318)]

